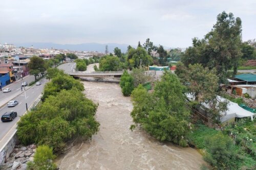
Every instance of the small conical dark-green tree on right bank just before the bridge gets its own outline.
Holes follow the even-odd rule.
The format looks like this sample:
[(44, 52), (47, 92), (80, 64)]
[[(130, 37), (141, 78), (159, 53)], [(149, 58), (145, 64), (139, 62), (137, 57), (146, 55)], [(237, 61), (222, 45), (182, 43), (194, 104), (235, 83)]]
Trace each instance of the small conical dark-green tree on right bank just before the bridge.
[(124, 70), (121, 76), (120, 87), (122, 88), (124, 96), (130, 96), (134, 89), (133, 77), (127, 72), (127, 70)]

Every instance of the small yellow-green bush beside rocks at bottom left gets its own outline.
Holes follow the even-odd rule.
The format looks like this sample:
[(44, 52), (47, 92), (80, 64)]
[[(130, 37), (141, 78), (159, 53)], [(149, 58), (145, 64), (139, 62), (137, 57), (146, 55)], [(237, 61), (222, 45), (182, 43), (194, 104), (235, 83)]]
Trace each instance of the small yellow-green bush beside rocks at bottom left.
[(29, 170), (55, 170), (57, 166), (53, 163), (55, 155), (53, 155), (52, 149), (47, 145), (41, 145), (36, 149), (34, 161), (29, 161), (27, 169)]

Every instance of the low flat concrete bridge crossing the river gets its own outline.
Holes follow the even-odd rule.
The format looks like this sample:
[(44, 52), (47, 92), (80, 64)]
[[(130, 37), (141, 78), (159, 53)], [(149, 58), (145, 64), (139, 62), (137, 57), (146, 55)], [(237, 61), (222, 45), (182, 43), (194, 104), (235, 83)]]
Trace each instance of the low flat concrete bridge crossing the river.
[[(131, 73), (132, 71), (128, 71)], [(74, 78), (120, 78), (123, 74), (123, 71), (93, 71), (93, 72), (82, 72), (82, 71), (76, 71), (71, 72), (69, 71), (68, 74), (70, 76), (73, 76)], [(147, 75), (156, 75), (156, 71), (145, 71), (145, 74)]]

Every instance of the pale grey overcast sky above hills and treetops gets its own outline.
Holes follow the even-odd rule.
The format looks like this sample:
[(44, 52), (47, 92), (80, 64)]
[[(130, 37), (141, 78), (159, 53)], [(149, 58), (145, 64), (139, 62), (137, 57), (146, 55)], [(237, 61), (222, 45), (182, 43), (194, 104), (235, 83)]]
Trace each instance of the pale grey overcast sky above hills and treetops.
[(243, 41), (256, 38), (256, 0), (1, 1), (0, 43), (87, 42), (187, 47), (222, 11), (242, 19)]

